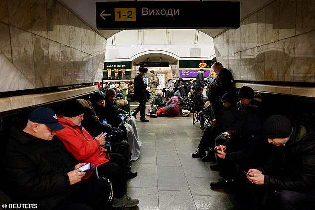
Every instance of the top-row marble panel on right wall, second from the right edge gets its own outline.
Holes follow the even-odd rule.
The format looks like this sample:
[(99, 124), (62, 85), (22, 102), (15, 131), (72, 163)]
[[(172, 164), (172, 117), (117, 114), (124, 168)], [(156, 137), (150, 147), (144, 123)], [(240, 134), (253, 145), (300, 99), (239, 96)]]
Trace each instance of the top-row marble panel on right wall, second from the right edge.
[(295, 34), (297, 0), (279, 0), (279, 40)]

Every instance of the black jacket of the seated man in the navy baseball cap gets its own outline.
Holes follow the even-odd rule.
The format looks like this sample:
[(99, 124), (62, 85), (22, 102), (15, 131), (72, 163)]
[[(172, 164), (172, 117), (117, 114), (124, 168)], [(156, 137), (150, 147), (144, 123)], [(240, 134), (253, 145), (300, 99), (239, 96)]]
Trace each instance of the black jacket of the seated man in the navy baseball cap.
[(6, 193), (20, 203), (37, 203), (50, 210), (73, 191), (67, 173), (78, 162), (65, 151), (60, 140), (42, 140), (12, 128), (3, 169)]

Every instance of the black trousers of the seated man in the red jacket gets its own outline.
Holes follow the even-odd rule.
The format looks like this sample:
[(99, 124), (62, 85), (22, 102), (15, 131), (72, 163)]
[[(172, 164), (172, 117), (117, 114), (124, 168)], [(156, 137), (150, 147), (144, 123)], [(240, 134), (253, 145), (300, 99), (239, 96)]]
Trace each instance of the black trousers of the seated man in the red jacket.
[[(97, 167), (99, 177), (112, 182), (114, 198), (121, 198), (127, 192), (127, 168), (121, 154), (110, 153), (110, 161)], [(96, 178), (96, 172), (91, 178)]]

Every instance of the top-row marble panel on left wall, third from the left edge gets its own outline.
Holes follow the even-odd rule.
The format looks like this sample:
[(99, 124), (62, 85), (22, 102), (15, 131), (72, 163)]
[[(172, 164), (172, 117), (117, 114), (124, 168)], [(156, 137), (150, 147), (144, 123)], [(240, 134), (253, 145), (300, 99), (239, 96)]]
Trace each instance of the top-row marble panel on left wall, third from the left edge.
[(47, 7), (46, 0), (30, 0), (32, 12), (32, 32), (45, 38), (47, 32)]

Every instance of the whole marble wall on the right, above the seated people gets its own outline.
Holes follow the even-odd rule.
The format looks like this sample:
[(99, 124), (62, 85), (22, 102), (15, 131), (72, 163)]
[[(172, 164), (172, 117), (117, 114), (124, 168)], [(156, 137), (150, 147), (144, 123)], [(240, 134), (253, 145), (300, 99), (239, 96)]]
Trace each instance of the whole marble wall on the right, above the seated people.
[(214, 44), (235, 80), (315, 82), (315, 1), (272, 1)]

